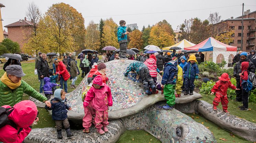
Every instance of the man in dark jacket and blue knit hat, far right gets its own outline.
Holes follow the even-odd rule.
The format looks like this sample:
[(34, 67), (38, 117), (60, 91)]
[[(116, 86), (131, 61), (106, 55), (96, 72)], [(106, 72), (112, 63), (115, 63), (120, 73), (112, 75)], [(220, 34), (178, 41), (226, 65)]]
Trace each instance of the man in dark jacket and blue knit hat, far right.
[(247, 61), (249, 62), (249, 67), (248, 67), (248, 73), (249, 72), (252, 72), (252, 73), (255, 73), (255, 66), (253, 64), (253, 62), (251, 62), (251, 60), (249, 60), (247, 58), (247, 53), (246, 52), (242, 52), (240, 54), (240, 61), (238, 61), (234, 67), (234, 72), (233, 72), (233, 76), (236, 78), (236, 88), (240, 89), (240, 90), (235, 90), (236, 92), (236, 99), (235, 101), (237, 102), (241, 102), (242, 101), (242, 96), (243, 96), (243, 91), (242, 91), (242, 88), (241, 88), (241, 85), (240, 85), (240, 75), (239, 73), (241, 73), (241, 64), (242, 62), (244, 61)]

